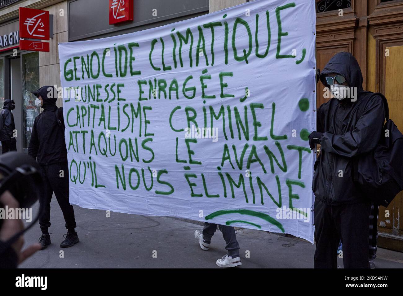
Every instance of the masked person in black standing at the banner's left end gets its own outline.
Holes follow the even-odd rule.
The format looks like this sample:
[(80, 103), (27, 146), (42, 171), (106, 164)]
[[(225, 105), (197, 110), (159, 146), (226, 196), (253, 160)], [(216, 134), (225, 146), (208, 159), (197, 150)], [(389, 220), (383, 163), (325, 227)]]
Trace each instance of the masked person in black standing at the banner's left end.
[(53, 193), (62, 209), (66, 221), (66, 239), (60, 244), (65, 248), (79, 242), (73, 206), (69, 203), (69, 169), (67, 165), (67, 151), (64, 143), (64, 120), (62, 108), (57, 108), (56, 89), (52, 86), (43, 86), (32, 91), (40, 100), (37, 106), (43, 111), (35, 118), (29, 141), (28, 154), (37, 159), (41, 175), (44, 179), (44, 214), (39, 218), (42, 236), (39, 243), (42, 249), (50, 244), (50, 201)]

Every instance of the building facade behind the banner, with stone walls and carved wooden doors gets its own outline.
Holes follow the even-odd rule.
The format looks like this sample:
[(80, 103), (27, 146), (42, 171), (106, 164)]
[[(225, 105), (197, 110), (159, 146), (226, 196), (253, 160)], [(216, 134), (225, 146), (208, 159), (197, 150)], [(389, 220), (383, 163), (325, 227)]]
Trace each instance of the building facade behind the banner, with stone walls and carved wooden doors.
[[(135, 0), (133, 21), (109, 24), (109, 0), (0, 0), (0, 107), (12, 97), (18, 149), (26, 151), (37, 109), (29, 93), (39, 85), (60, 86), (58, 42), (90, 40), (158, 27), (249, 2), (249, 0)], [(364, 76), (364, 89), (382, 92), (390, 117), (403, 130), (403, 0), (316, 0), (318, 68), (337, 52), (351, 52)], [(50, 52), (20, 51), (18, 7), (53, 15)], [(401, 92), (402, 91), (402, 92)], [(327, 99), (317, 87), (317, 106)], [(58, 101), (61, 106), (61, 101)], [(18, 125), (18, 126), (17, 126)], [(22, 134), (22, 135), (21, 135)], [(20, 136), (21, 135), (21, 136)], [(379, 245), (403, 251), (403, 194), (380, 207)], [(352, 226), (353, 227), (353, 226)]]

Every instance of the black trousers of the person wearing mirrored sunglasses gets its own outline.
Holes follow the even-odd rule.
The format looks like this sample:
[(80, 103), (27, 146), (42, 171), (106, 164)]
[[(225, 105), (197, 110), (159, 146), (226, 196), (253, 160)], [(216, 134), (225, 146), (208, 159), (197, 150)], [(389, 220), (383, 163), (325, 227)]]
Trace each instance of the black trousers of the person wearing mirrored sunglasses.
[(327, 205), (315, 199), (315, 268), (337, 268), (337, 247), (343, 243), (344, 268), (369, 268), (370, 203)]

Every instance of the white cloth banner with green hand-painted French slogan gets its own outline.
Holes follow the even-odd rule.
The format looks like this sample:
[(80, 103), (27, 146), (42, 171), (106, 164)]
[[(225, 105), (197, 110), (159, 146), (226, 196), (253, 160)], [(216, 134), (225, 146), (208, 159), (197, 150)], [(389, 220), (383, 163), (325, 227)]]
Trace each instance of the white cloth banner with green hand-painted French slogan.
[(313, 242), (314, 0), (59, 44), (70, 202)]

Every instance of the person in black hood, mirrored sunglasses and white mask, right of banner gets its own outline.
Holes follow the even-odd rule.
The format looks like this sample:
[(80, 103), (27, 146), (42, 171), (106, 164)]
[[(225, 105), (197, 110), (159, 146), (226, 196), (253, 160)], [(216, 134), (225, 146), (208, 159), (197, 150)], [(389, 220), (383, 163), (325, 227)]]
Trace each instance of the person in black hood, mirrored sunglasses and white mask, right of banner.
[[(335, 82), (337, 75), (345, 82)], [(335, 254), (341, 239), (344, 267), (368, 268), (371, 204), (353, 180), (353, 163), (378, 143), (385, 119), (384, 104), (380, 95), (363, 90), (361, 69), (350, 53), (336, 54), (322, 70), (320, 80), (330, 89), (333, 86), (326, 77), (355, 92), (343, 99), (334, 89), (334, 97), (318, 109), (318, 130), (309, 137), (311, 148), (321, 144), (312, 184), (316, 197), (314, 267), (337, 267)]]

